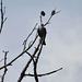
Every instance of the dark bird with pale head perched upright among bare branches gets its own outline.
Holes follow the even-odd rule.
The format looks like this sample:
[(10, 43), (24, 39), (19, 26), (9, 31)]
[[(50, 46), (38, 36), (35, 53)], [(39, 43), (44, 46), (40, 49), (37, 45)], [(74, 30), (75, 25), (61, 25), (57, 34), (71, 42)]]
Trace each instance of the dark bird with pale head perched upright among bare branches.
[(44, 24), (40, 24), (40, 26), (38, 26), (37, 33), (38, 33), (38, 36), (43, 39), (43, 45), (46, 45), (45, 38), (46, 38), (47, 32), (46, 32), (46, 28), (44, 27)]

